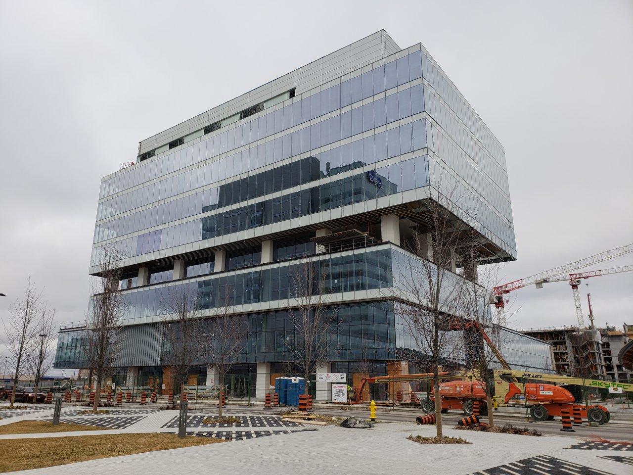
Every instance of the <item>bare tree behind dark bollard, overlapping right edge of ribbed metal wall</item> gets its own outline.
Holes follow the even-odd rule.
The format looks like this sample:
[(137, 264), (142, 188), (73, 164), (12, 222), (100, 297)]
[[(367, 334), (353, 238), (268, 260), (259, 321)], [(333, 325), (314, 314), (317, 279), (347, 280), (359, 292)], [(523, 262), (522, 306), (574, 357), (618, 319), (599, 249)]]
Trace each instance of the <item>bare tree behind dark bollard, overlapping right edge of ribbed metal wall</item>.
[(196, 284), (164, 289), (165, 347), (163, 359), (173, 377), (173, 391), (179, 394), (187, 384), (189, 371), (203, 356), (203, 335), (196, 316)]

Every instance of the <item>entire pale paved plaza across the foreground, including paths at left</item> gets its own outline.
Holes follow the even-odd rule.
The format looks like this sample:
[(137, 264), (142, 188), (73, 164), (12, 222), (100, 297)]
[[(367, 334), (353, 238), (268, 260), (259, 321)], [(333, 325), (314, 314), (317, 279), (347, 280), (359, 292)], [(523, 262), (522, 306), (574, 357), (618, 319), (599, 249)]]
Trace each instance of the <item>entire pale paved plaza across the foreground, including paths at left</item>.
[[(18, 419), (50, 420), (52, 409), (5, 411), (6, 424)], [(80, 408), (84, 409), (84, 408)], [(110, 409), (110, 408), (108, 408)], [(56, 434), (15, 434), (11, 438), (70, 437), (89, 434), (175, 433), (177, 411), (111, 408), (103, 415), (80, 415), (77, 407), (64, 407), (61, 421), (112, 428)], [(235, 410), (239, 410), (236, 408)], [(235, 412), (233, 410), (232, 412)], [(263, 411), (262, 411), (263, 412)], [(3, 413), (3, 414), (4, 414)], [(16, 414), (16, 415), (13, 415)], [(19, 414), (19, 415), (17, 415)], [(236, 424), (203, 424), (210, 411), (189, 412), (187, 433), (213, 436), (231, 443), (139, 453), (89, 460), (69, 466), (46, 467), (24, 474), (90, 473), (117, 475), (150, 472), (256, 473), (256, 474), (630, 474), (633, 447), (574, 436), (518, 436), (467, 432), (444, 427), (444, 434), (461, 436), (468, 445), (422, 445), (406, 439), (410, 434), (434, 436), (433, 426), (415, 423), (377, 424), (373, 429), (313, 426), (306, 421), (286, 422), (274, 414), (239, 415)], [(277, 435), (279, 437), (270, 437)], [(44, 442), (44, 441), (42, 441)]]

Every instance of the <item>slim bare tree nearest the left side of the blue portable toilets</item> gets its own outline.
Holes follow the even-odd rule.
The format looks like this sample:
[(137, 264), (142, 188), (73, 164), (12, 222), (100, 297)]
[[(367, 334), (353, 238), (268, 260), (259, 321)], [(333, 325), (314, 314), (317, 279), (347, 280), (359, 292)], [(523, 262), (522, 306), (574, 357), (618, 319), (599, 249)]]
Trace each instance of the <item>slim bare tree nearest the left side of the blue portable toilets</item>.
[(232, 302), (232, 286), (225, 286), (220, 295), (220, 306), (216, 314), (206, 321), (208, 325), (206, 355), (210, 366), (218, 375), (220, 393), (218, 399), (218, 417), (222, 417), (222, 401), (225, 378), (231, 367), (246, 346), (246, 322), (241, 315), (235, 315)]

